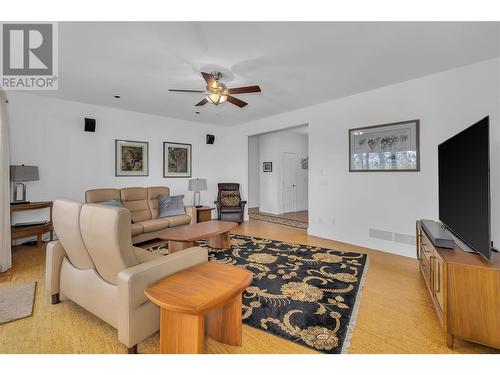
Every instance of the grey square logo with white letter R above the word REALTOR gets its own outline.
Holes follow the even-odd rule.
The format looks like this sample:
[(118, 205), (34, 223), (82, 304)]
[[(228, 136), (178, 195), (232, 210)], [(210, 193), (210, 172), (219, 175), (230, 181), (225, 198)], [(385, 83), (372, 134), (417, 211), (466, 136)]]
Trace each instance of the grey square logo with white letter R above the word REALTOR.
[(52, 24), (3, 24), (4, 76), (53, 74)]

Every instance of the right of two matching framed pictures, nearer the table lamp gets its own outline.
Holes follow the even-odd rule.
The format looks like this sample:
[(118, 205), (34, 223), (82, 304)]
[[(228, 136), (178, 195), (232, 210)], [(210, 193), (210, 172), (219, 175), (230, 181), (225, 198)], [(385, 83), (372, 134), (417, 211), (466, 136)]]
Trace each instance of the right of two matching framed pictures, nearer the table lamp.
[(163, 142), (163, 177), (191, 177), (191, 145)]

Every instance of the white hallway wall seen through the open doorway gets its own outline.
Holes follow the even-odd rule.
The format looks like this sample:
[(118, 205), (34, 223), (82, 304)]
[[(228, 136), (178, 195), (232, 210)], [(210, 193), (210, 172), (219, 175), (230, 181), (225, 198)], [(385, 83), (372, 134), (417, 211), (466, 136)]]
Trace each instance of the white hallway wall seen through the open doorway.
[(260, 211), (281, 214), (283, 210), (282, 176), (283, 153), (295, 153), (297, 205), (296, 210), (307, 209), (307, 170), (300, 167), (300, 159), (307, 157), (307, 135), (280, 131), (263, 134), (260, 138), (260, 165), (266, 161), (273, 163), (272, 172), (264, 172), (260, 168)]

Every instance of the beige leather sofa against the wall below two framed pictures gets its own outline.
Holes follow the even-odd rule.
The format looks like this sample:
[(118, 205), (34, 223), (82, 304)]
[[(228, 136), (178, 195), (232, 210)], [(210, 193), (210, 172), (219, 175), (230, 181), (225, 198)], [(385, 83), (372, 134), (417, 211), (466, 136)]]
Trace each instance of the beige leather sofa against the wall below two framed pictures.
[(158, 238), (166, 228), (196, 223), (196, 208), (186, 206), (186, 214), (158, 217), (158, 195), (170, 195), (165, 186), (131, 187), (123, 189), (93, 189), (85, 192), (85, 202), (99, 203), (119, 199), (132, 217), (132, 243), (136, 244)]

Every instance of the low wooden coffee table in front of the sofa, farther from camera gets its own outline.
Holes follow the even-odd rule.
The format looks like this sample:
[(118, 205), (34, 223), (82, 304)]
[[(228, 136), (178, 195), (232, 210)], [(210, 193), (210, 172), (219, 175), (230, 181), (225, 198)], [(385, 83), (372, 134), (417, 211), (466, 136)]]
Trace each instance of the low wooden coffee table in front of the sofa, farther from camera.
[(238, 224), (231, 221), (205, 221), (192, 225), (181, 225), (160, 232), (158, 238), (168, 241), (169, 253), (196, 246), (195, 241), (207, 240), (207, 245), (216, 249), (228, 249), (231, 243), (229, 231)]

